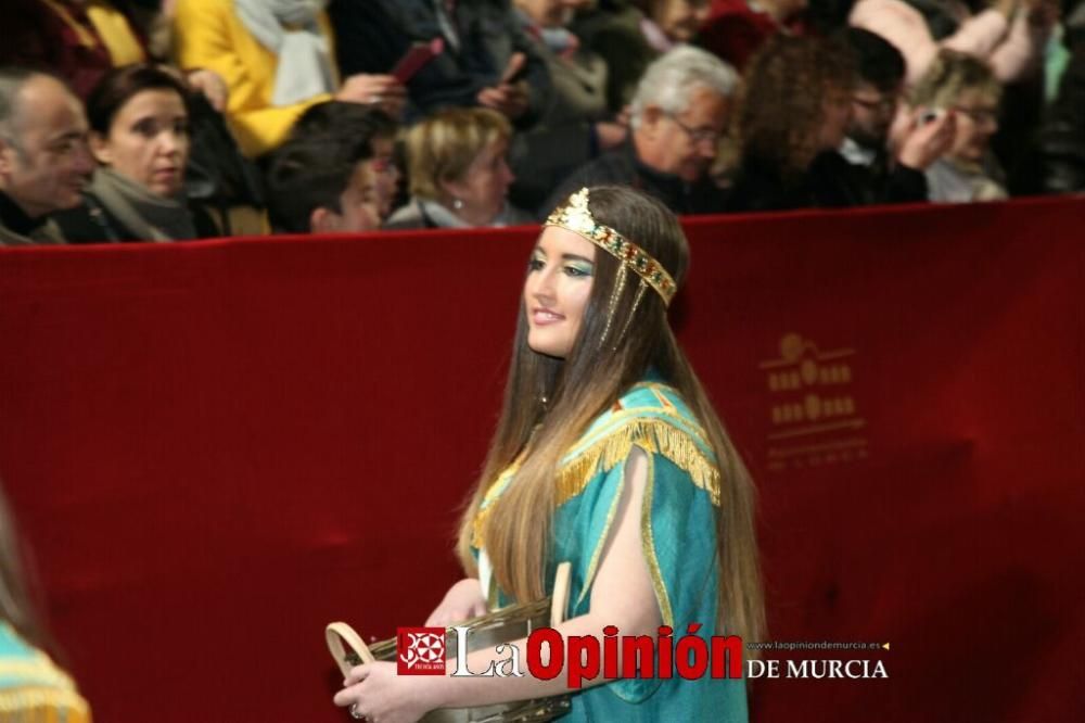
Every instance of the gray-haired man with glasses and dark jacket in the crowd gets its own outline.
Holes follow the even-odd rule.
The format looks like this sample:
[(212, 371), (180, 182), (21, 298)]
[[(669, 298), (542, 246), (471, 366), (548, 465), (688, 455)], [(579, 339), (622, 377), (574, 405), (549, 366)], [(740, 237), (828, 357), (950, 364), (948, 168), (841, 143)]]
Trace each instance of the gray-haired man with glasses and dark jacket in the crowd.
[(573, 172), (540, 214), (580, 187), (602, 183), (638, 188), (676, 214), (722, 212), (724, 194), (709, 170), (737, 89), (735, 69), (715, 55), (690, 46), (667, 52), (637, 86), (629, 140)]

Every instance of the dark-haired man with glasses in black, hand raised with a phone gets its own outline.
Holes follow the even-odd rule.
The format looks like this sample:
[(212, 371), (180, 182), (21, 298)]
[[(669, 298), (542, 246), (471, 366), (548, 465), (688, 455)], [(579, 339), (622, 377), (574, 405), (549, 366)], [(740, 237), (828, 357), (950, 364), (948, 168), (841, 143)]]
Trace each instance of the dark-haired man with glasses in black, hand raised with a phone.
[(855, 55), (858, 78), (852, 91), (852, 119), (840, 153), (855, 167), (856, 186), (867, 196), (864, 201), (927, 201), (924, 172), (953, 143), (953, 116), (923, 118), (919, 113), (902, 118), (896, 153), (891, 156), (890, 136), (904, 89), (904, 55), (881, 36), (861, 28), (847, 28), (843, 39)]

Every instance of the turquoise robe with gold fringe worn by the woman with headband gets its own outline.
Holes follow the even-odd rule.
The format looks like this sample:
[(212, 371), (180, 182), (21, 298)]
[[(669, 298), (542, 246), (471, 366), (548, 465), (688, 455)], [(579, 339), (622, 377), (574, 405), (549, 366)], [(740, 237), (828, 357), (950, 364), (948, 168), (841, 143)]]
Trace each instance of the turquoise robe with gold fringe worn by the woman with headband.
[[(566, 619), (588, 612), (591, 583), (634, 446), (648, 455), (641, 542), (663, 624), (674, 629), (677, 644), (687, 625), (700, 623), (698, 635), (707, 644), (713, 634), (722, 634), (716, 630), (719, 470), (707, 435), (671, 386), (635, 384), (563, 457), (547, 579), (553, 580), (558, 562), (570, 561)], [(515, 466), (487, 492), (476, 531), (514, 475)], [(477, 535), (476, 542), (482, 542)], [(561, 720), (746, 721), (745, 682), (714, 680), (707, 673), (687, 681), (677, 671), (668, 680), (615, 680), (573, 694), (573, 710)]]

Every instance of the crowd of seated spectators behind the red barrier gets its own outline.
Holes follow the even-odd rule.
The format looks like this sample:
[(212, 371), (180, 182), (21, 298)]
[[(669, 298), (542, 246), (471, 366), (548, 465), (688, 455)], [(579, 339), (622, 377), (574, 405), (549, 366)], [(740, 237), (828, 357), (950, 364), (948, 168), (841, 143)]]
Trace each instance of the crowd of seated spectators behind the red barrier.
[(1083, 0), (7, 0), (0, 243), (1085, 190)]

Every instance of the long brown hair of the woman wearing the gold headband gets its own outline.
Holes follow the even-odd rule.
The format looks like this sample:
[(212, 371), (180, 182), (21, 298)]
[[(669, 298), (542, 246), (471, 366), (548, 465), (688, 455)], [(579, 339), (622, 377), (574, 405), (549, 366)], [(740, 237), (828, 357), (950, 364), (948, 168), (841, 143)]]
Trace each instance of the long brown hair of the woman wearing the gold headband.
[[(681, 286), (689, 246), (678, 219), (663, 204), (618, 187), (591, 189), (589, 204), (597, 221), (635, 241)], [(580, 332), (565, 359), (528, 347), (521, 300), (501, 416), (460, 524), (460, 559), (469, 574), (474, 574), (471, 544), (483, 496), (506, 468), (522, 458), (482, 531), (500, 588), (522, 601), (542, 597), (544, 572), (551, 562), (546, 555), (552, 548), (554, 482), (561, 458), (588, 424), (651, 368), (690, 405), (719, 462), (720, 623), (728, 633), (760, 639), (764, 609), (753, 483), (675, 340), (663, 300), (650, 288), (641, 292), (636, 276), (620, 283), (623, 274), (630, 272), (611, 254), (596, 254)]]

